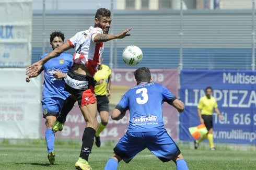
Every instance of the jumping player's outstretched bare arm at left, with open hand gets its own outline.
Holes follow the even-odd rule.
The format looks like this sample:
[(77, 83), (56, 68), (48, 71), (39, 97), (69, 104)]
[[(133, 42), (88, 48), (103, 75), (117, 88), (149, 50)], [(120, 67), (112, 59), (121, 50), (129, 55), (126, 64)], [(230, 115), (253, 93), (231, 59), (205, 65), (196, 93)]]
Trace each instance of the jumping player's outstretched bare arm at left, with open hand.
[(59, 56), (61, 53), (63, 53), (64, 51), (69, 50), (70, 48), (72, 48), (72, 46), (68, 42), (65, 42), (61, 46), (55, 48), (47, 56), (40, 59), (38, 62), (32, 64), (31, 66), (27, 67), (26, 68), (26, 75), (31, 76), (31, 75), (36, 74), (37, 72), (39, 72), (42, 69), (42, 66), (43, 66), (44, 63), (48, 62), (48, 60), (50, 60), (51, 58)]

